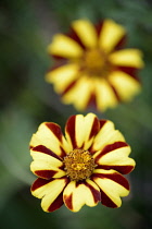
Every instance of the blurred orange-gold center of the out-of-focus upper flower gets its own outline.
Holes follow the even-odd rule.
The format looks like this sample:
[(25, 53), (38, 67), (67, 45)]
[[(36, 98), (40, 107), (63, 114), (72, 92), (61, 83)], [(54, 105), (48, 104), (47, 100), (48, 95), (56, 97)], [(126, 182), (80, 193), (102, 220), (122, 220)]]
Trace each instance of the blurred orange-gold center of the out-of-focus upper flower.
[(111, 70), (111, 64), (104, 52), (98, 49), (90, 49), (84, 55), (83, 70), (90, 76), (105, 77)]

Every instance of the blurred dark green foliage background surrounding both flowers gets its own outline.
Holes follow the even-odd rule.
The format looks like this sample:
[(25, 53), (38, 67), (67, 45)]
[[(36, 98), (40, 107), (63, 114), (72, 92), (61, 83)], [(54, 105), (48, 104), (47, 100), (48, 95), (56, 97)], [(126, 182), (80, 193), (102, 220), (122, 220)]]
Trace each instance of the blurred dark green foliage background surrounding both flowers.
[[(137, 161), (128, 176), (131, 192), (123, 206), (101, 204), (71, 213), (64, 206), (43, 213), (30, 194), (35, 176), (29, 171), (28, 144), (43, 121), (64, 128), (77, 113), (64, 106), (45, 82), (52, 59), (47, 46), (71, 21), (110, 17), (128, 31), (128, 47), (143, 51), (140, 71), (143, 88), (130, 104), (119, 105), (99, 118), (114, 121), (131, 145)], [(4, 229), (149, 229), (152, 228), (152, 1), (145, 0), (2, 0), (0, 7), (0, 227)]]

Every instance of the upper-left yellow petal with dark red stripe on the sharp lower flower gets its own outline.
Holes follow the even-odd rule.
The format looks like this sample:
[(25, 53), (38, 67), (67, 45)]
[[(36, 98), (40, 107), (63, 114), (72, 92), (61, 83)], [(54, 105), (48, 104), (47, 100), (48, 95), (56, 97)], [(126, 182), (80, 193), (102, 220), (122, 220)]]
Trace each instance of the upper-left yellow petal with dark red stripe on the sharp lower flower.
[(63, 150), (71, 152), (71, 148), (65, 141), (61, 128), (53, 122), (43, 122), (38, 131), (33, 135), (30, 147), (43, 145), (59, 156), (63, 155)]

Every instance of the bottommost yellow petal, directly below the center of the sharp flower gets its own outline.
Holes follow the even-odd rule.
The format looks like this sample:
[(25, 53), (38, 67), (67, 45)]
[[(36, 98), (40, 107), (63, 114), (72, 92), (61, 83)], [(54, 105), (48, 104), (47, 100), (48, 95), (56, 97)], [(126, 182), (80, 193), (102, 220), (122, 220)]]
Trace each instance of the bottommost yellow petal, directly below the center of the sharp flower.
[(78, 212), (85, 204), (93, 207), (100, 197), (100, 190), (91, 180), (77, 184), (71, 181), (63, 192), (64, 203), (72, 212)]

